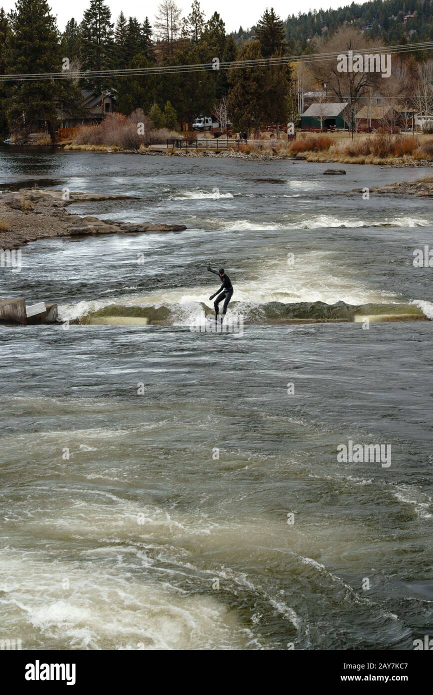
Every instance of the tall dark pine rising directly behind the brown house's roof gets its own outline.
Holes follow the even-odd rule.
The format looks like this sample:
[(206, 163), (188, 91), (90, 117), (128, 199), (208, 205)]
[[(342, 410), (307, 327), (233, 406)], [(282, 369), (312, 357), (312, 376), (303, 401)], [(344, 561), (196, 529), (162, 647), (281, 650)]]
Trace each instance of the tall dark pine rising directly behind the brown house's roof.
[[(81, 67), (82, 70), (109, 70), (113, 65), (113, 24), (110, 8), (104, 0), (90, 0), (81, 22)], [(106, 78), (89, 77), (85, 86), (96, 91), (109, 90), (112, 81)]]

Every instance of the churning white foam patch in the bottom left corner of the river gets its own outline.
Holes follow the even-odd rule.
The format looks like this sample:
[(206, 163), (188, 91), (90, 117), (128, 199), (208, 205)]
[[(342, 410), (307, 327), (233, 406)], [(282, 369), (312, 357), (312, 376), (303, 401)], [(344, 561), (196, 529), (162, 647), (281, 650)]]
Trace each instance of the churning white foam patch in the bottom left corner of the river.
[[(2, 554), (2, 603), (8, 632), (24, 635), (23, 648), (242, 649), (252, 633), (215, 596), (185, 596), (164, 582), (122, 566), (140, 563), (135, 548), (94, 562), (50, 562), (31, 553)], [(113, 562), (117, 555), (119, 562)], [(17, 578), (10, 582), (10, 577)]]

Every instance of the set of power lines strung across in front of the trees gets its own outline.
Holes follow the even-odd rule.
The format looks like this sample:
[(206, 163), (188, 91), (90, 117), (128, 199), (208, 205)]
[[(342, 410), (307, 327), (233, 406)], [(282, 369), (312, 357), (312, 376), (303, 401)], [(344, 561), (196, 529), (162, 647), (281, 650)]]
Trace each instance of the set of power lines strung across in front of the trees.
[[(355, 54), (404, 54), (412, 51), (431, 51), (433, 41), (425, 41), (412, 44), (398, 44), (395, 46), (380, 46), (368, 49), (353, 49)], [(276, 58), (254, 58), (251, 60), (220, 61), (218, 70), (243, 70), (245, 68), (272, 67), (288, 65), (288, 63), (317, 63), (325, 62), (348, 55), (348, 51), (329, 53), (317, 53), (299, 56), (278, 56)], [(191, 63), (189, 65), (162, 65), (155, 67), (123, 68), (121, 70), (85, 70), (76, 72), (40, 72), (0, 75), (0, 82), (10, 81), (51, 81), (58, 79), (102, 79), (104, 77), (131, 77), (163, 74), (183, 74), (192, 72), (218, 72), (213, 63)]]

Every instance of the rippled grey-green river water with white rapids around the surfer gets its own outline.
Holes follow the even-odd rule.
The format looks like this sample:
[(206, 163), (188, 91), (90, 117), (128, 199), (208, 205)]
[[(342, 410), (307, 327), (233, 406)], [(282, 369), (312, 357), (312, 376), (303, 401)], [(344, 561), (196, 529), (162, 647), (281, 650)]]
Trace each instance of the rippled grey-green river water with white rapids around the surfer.
[[(63, 320), (0, 327), (2, 637), (406, 650), (433, 634), (432, 323), (281, 321), (315, 302), (433, 316), (432, 269), (412, 264), (432, 202), (350, 193), (426, 171), (325, 168), (0, 151), (1, 188), (138, 195), (70, 211), (188, 227), (42, 240), (0, 270), (1, 297)], [(243, 334), (190, 331), (218, 289), (208, 263)], [(349, 440), (391, 445), (391, 466), (338, 461)]]

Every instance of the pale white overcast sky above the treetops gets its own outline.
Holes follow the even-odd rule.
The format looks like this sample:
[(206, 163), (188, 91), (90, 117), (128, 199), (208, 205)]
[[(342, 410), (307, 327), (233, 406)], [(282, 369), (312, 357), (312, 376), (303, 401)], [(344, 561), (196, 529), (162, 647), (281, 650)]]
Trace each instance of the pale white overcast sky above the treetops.
[[(177, 5), (183, 11), (183, 15), (190, 13), (191, 3), (192, 0), (177, 0)], [(338, 8), (350, 5), (350, 3), (351, 0), (308, 0), (308, 2), (293, 0), (291, 3), (283, 0), (271, 0), (270, 2), (267, 2), (267, 0), (251, 0), (248, 3), (245, 3), (245, 0), (236, 3), (232, 0), (220, 0), (218, 3), (202, 1), (200, 4), (202, 9), (204, 9), (206, 19), (209, 19), (214, 12), (218, 12), (224, 19), (227, 31), (234, 31), (239, 28), (240, 24), (242, 24), (243, 28), (256, 24), (257, 19), (263, 14), (266, 6), (268, 8), (273, 7), (281, 19), (286, 19), (289, 13), (297, 15), (299, 12), (308, 12), (309, 8), (316, 8), (317, 10), (320, 8)], [(88, 7), (89, 0), (74, 0), (72, 3), (67, 3), (65, 0), (48, 0), (48, 4), (51, 6), (52, 13), (57, 15), (60, 31), (63, 31), (66, 22), (71, 17), (74, 17), (77, 22), (81, 22), (83, 11)], [(15, 0), (0, 0), (1, 6), (6, 11), (9, 11), (15, 7)], [(158, 0), (149, 0), (146, 3), (138, 2), (138, 0), (108, 0), (108, 6), (111, 9), (112, 22), (117, 18), (120, 10), (123, 10), (126, 17), (132, 15), (137, 17), (140, 22), (147, 15), (153, 24), (158, 8)]]

